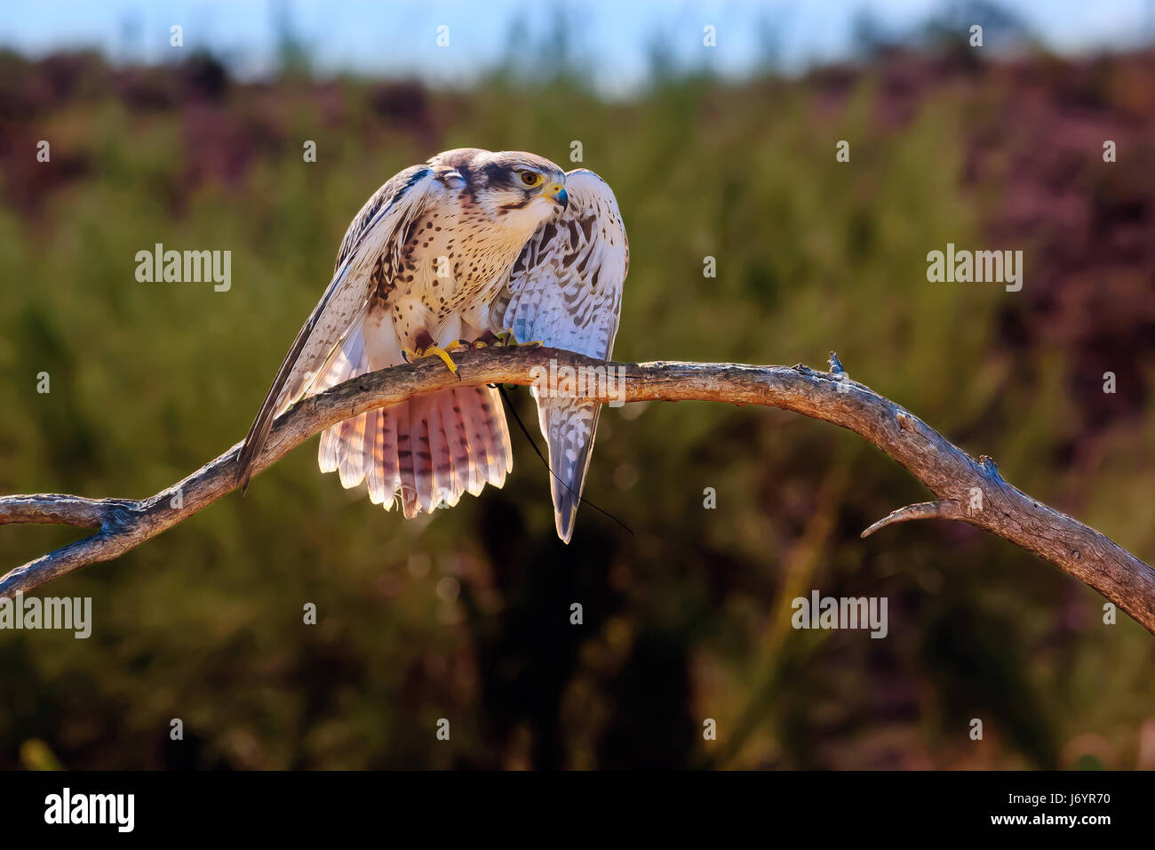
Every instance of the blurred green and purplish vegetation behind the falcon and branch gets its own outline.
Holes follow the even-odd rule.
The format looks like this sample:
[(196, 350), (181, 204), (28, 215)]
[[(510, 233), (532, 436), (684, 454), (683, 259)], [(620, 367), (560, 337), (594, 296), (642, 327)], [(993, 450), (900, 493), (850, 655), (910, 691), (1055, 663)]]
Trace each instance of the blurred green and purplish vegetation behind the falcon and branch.
[[(380, 183), (457, 146), (572, 167), (579, 140), (629, 230), (618, 360), (825, 367), (836, 349), (1152, 562), (1152, 60), (1104, 62), (887, 56), (606, 101), (568, 75), (241, 84), (207, 57), (6, 54), (0, 491), (171, 485), (245, 434)], [(1023, 291), (929, 283), (947, 242), (1023, 249)], [(231, 251), (231, 290), (137, 282), (155, 243)], [(516, 430), (514, 451), (505, 489), (404, 522), (320, 475), (314, 439), (246, 497), (44, 587), (92, 597), (92, 636), (0, 633), (0, 767), (1141, 763), (1152, 637), (969, 526), (859, 540), (925, 493), (851, 434), (773, 409), (608, 409), (586, 495), (634, 533), (586, 508), (568, 547)], [(2, 567), (77, 537), (2, 529)], [(790, 629), (812, 587), (887, 597), (887, 638)]]

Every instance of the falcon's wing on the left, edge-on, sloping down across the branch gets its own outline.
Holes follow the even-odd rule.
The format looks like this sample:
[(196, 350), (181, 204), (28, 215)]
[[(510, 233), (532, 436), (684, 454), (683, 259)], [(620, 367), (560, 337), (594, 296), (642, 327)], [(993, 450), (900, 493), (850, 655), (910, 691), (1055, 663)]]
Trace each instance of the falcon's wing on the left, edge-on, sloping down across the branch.
[(434, 168), (413, 165), (387, 180), (353, 219), (341, 242), (333, 280), (293, 340), (245, 437), (237, 465), (241, 491), (248, 486), (253, 461), (264, 446), (274, 416), (305, 393), (365, 308), (378, 257), (400, 252), (407, 228), (442, 192), (445, 184), (437, 179)]

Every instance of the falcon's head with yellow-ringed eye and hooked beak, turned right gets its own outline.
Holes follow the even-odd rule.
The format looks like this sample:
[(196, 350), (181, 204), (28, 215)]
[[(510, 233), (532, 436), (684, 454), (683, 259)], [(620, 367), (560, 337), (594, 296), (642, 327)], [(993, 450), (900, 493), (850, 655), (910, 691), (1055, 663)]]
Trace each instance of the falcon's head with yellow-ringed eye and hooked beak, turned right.
[[(457, 148), (438, 154), (430, 164), (460, 175), (459, 187), (470, 206), (494, 223), (527, 234), (569, 204), (566, 172), (536, 154)], [(450, 185), (456, 182), (450, 178)]]

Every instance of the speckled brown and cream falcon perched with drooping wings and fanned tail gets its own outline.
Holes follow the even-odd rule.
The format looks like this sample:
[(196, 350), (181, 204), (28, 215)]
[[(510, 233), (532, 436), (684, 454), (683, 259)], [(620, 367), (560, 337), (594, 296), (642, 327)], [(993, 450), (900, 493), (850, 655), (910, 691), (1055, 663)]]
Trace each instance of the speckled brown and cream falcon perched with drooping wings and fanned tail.
[[(541, 343), (609, 359), (628, 267), (625, 226), (593, 171), (460, 148), (387, 180), (353, 219), (333, 279), (285, 355), (238, 458), (244, 490), (274, 419), (349, 378), (470, 345)], [(558, 535), (581, 501), (598, 402), (532, 391)], [(513, 468), (495, 389), (464, 386), (340, 422), (321, 472), (405, 517), (501, 487)]]

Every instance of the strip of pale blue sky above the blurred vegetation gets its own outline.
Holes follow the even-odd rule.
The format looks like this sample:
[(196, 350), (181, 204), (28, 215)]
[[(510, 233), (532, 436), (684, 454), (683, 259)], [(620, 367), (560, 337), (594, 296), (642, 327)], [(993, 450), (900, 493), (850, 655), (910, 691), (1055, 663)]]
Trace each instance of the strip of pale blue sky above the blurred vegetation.
[[(273, 67), (278, 17), (288, 17), (321, 72), (468, 80), (495, 62), (520, 28), (531, 38), (515, 52), (539, 50), (558, 9), (580, 49), (578, 61), (609, 89), (628, 88), (648, 68), (649, 46), (670, 47), (686, 64), (742, 74), (765, 54), (767, 25), (788, 69), (848, 56), (863, 10), (902, 31), (948, 6), (946, 0), (2, 0), (0, 45), (39, 56), (92, 46), (121, 61), (177, 56), (169, 28), (184, 27), (185, 50), (206, 46), (241, 75)], [(1006, 0), (1063, 52), (1134, 46), (1155, 32), (1155, 0)], [(437, 28), (449, 27), (438, 47)], [(717, 47), (702, 47), (702, 27), (717, 28)], [(990, 38), (990, 34), (989, 34)], [(536, 40), (535, 40), (536, 39)]]

